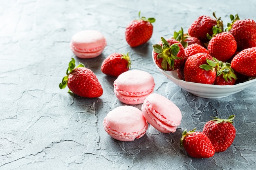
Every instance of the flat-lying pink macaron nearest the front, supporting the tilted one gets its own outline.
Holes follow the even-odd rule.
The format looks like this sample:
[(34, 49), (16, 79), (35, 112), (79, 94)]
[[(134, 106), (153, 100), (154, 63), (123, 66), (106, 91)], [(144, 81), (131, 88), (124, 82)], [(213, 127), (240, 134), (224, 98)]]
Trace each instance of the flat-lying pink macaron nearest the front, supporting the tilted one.
[(134, 141), (144, 136), (148, 123), (141, 110), (133, 106), (119, 106), (111, 110), (103, 121), (104, 130), (119, 141)]

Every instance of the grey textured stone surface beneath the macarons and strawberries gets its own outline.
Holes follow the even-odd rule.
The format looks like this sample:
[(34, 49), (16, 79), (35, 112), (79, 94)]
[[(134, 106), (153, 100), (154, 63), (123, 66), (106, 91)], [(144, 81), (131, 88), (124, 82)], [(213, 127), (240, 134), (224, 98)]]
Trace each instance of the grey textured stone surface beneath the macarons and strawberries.
[[(256, 1), (221, 0), (1, 0), (0, 5), (0, 169), (1, 170), (252, 170), (256, 169), (256, 85), (222, 99), (191, 95), (161, 75), (151, 59), (152, 45), (169, 38), (200, 15), (229, 14), (256, 20)], [(155, 17), (153, 36), (137, 48), (124, 38), (126, 25)], [(102, 55), (81, 60), (69, 48), (72, 35), (96, 29), (108, 46)], [(173, 134), (149, 126), (133, 142), (112, 139), (103, 130), (106, 114), (121, 104), (114, 96), (115, 78), (100, 66), (114, 52), (127, 53), (132, 69), (152, 74), (155, 93), (182, 111)], [(72, 96), (58, 84), (75, 57), (92, 69), (104, 93), (96, 99)], [(141, 105), (135, 107), (140, 108)], [(210, 116), (235, 114), (234, 143), (209, 159), (189, 157), (179, 146), (184, 129), (202, 130)]]

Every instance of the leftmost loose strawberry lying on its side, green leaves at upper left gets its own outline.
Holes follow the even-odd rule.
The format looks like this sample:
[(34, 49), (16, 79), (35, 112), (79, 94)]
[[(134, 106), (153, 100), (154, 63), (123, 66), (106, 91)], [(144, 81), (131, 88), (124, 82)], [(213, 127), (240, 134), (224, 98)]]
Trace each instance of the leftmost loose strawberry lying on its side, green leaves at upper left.
[(81, 97), (93, 98), (102, 95), (101, 84), (89, 68), (85, 68), (81, 63), (75, 68), (74, 58), (72, 58), (68, 66), (67, 75), (63, 77), (59, 88), (63, 89), (67, 86), (70, 91)]

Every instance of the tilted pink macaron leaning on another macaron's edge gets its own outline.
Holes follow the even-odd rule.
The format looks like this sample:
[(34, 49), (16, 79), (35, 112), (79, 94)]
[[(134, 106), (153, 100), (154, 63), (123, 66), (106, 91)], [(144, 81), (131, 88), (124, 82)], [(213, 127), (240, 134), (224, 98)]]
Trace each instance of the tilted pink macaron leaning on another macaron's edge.
[(180, 109), (166, 97), (152, 93), (141, 106), (142, 114), (150, 125), (163, 133), (175, 132), (180, 125)]

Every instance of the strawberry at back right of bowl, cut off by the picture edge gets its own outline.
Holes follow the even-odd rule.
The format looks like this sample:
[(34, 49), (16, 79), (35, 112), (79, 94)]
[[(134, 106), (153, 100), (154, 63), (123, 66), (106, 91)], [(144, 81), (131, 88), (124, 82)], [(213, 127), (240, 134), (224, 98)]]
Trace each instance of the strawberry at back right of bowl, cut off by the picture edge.
[(256, 22), (252, 19), (240, 20), (238, 14), (230, 15), (232, 23), (227, 30), (234, 35), (238, 51), (256, 47)]

